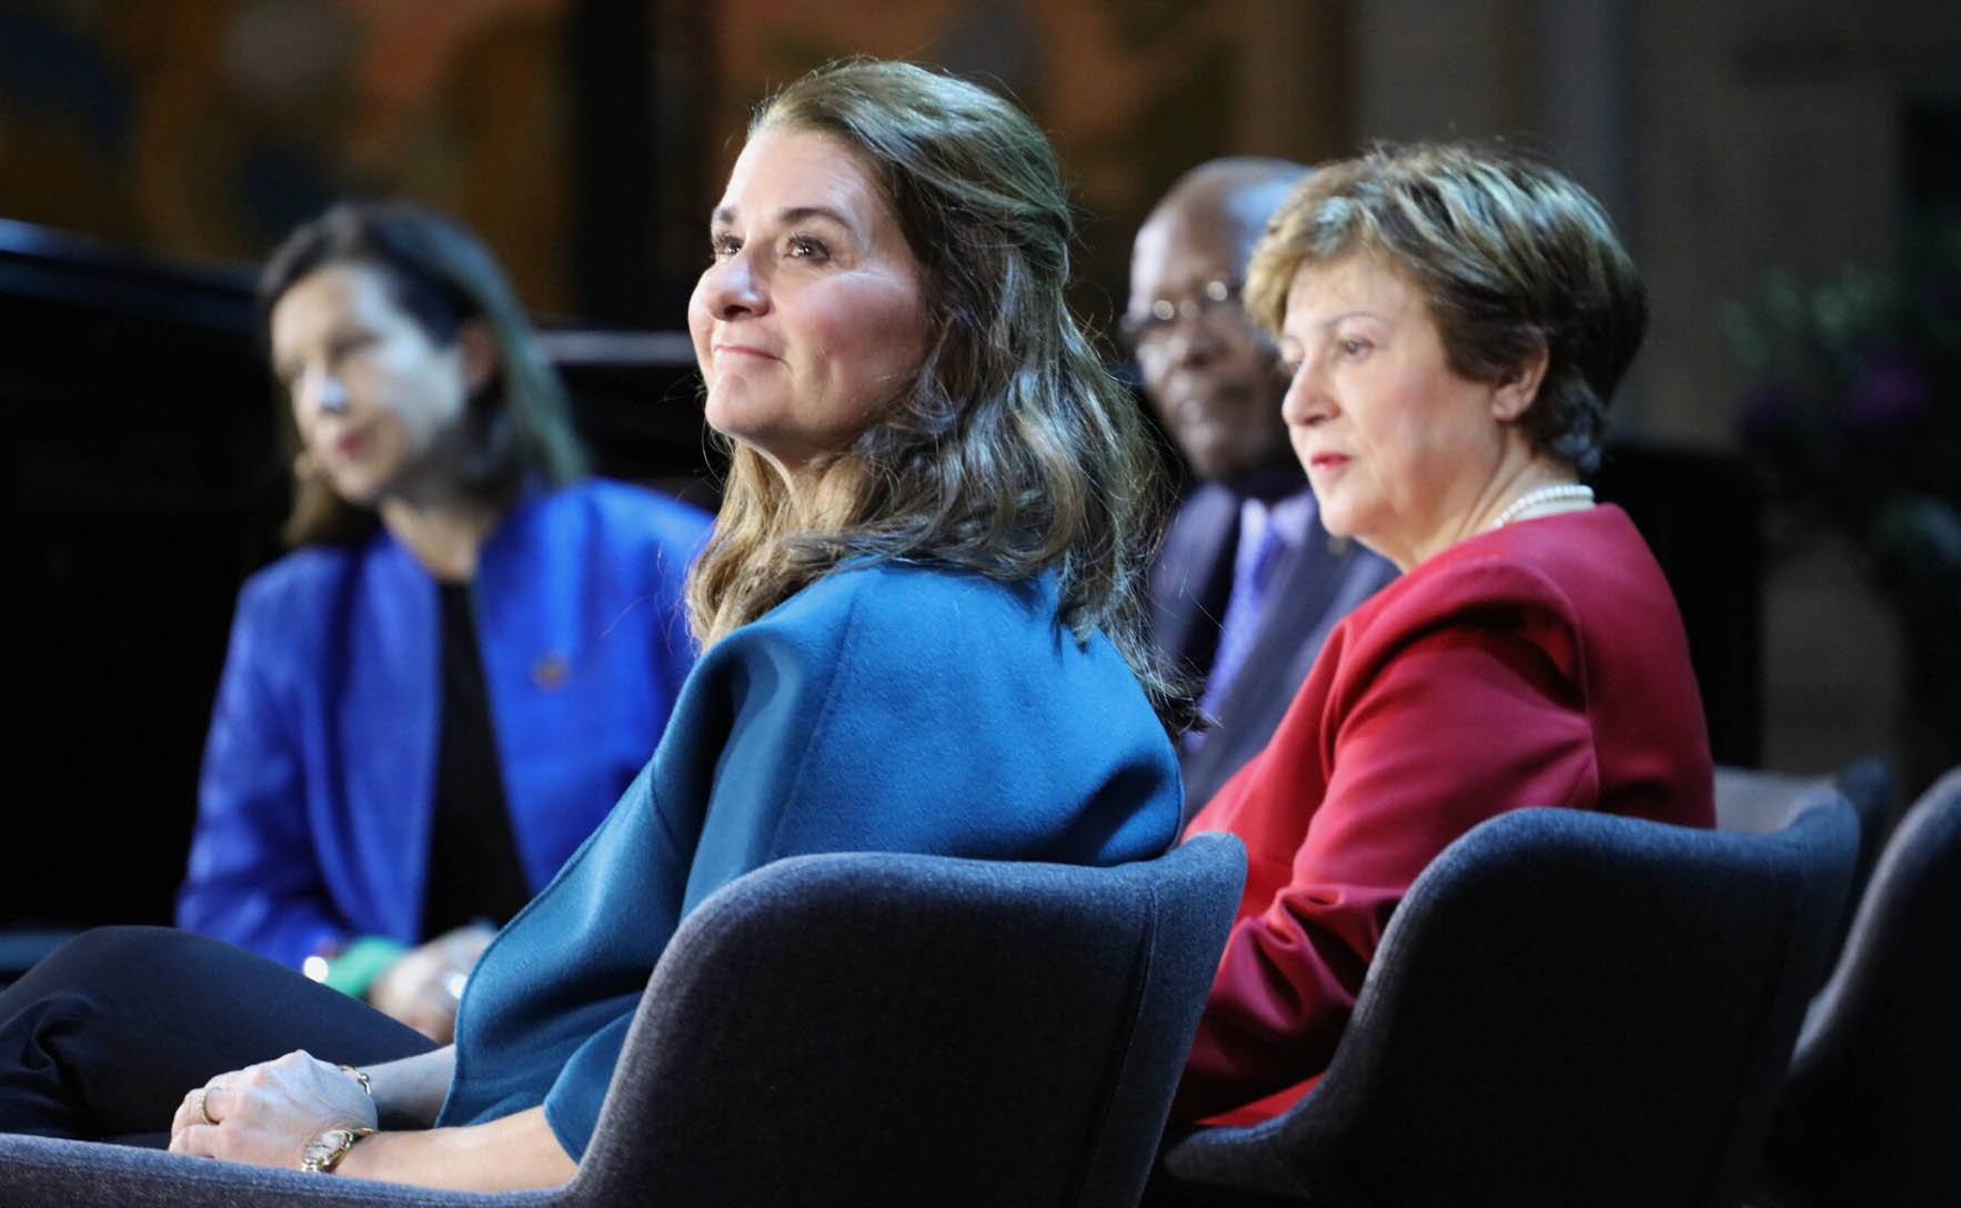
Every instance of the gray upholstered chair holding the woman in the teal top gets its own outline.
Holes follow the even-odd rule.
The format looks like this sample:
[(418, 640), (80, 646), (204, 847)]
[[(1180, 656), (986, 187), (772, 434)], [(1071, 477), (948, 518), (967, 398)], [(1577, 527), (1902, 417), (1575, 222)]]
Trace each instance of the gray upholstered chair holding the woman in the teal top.
[(0, 1204), (1137, 1202), (1237, 839), (1118, 869), (814, 855), (675, 933), (563, 1188), (443, 1194), (0, 1137)]

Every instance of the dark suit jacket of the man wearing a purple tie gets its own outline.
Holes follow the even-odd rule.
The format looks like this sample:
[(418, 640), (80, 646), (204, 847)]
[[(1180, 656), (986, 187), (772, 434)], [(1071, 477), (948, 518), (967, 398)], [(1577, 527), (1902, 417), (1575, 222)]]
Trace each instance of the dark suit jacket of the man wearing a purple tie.
[[(1396, 577), (1394, 565), (1361, 545), (1345, 543), (1345, 551), (1337, 553), (1332, 543), (1316, 516), (1306, 547), (1288, 549), (1275, 565), (1253, 649), (1218, 700), (1218, 726), (1196, 749), (1179, 749), (1186, 816), (1212, 800), (1267, 745), (1320, 655), (1328, 629)], [(1151, 641), (1198, 677), (1212, 671), (1218, 653), (1237, 545), (1239, 496), (1204, 482), (1171, 518), (1151, 567)]]

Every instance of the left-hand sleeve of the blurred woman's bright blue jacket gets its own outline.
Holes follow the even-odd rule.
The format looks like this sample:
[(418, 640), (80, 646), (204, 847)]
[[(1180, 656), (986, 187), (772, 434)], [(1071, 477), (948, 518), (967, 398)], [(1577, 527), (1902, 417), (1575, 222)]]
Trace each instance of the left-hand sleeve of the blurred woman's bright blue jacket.
[(347, 924), (320, 879), (296, 722), (267, 682), (278, 641), (269, 602), (247, 588), (204, 743), (176, 924), (298, 967)]

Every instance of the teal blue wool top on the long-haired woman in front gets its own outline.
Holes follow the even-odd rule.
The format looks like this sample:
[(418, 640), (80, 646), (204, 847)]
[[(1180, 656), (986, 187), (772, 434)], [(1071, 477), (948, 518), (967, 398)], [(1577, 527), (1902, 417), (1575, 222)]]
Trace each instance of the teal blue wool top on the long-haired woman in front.
[(471, 975), (437, 1124), (545, 1104), (582, 1155), (675, 928), (773, 859), (1163, 853), (1182, 802), (1171, 743), (1110, 641), (1077, 645), (1055, 604), (1053, 577), (884, 563), (718, 641), (606, 826)]

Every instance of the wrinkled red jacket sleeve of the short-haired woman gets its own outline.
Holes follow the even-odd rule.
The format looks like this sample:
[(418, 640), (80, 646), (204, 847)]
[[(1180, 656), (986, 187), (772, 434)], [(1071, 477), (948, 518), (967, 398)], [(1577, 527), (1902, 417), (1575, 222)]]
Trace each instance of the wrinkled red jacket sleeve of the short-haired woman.
[[(1573, 684), (1530, 626), (1439, 628), (1381, 667), (1335, 730), (1328, 792), (1288, 884), (1232, 930), (1179, 1118), (1328, 1067), (1383, 928), (1451, 839), (1504, 810), (1592, 804), (1592, 730)], [(1284, 792), (1255, 777), (1235, 788)]]

